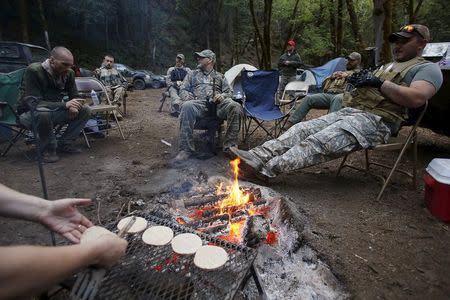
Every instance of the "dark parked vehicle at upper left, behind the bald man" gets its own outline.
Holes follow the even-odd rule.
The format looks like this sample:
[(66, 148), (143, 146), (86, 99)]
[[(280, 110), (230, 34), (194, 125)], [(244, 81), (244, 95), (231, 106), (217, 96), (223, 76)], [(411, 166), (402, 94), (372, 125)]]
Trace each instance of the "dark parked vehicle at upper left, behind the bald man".
[(0, 41), (0, 72), (9, 73), (27, 67), (34, 62), (42, 62), (49, 57), (49, 51), (43, 47)]

